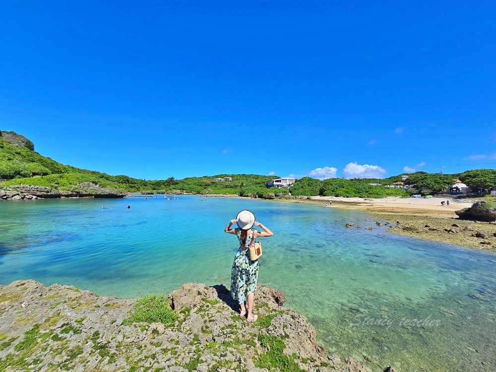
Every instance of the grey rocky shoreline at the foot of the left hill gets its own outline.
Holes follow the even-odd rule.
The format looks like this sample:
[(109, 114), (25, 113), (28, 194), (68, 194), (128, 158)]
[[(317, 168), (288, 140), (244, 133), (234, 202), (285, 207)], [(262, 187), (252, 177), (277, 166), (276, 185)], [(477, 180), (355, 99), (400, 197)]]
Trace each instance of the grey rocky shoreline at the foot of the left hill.
[(56, 190), (45, 186), (12, 185), (0, 190), (2, 200), (35, 200), (68, 197), (120, 198), (127, 192), (102, 188), (92, 182), (82, 182), (71, 190)]

